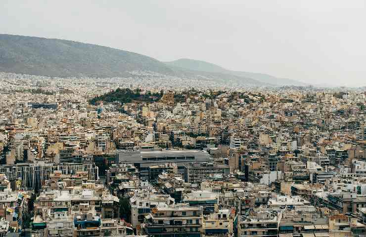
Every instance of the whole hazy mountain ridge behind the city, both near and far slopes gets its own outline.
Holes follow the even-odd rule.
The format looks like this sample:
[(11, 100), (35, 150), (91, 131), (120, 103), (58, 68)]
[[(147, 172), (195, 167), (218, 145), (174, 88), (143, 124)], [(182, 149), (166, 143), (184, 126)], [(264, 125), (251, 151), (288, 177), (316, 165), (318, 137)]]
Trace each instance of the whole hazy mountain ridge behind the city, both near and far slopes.
[(149, 72), (170, 79), (194, 79), (207, 85), (212, 82), (234, 87), (282, 85), (285, 84), (283, 80), (288, 80), (280, 81), (265, 74), (233, 72), (191, 59), (164, 63), (138, 53), (95, 44), (4, 34), (0, 34), (0, 72), (54, 77), (140, 78), (148, 76), (138, 72)]

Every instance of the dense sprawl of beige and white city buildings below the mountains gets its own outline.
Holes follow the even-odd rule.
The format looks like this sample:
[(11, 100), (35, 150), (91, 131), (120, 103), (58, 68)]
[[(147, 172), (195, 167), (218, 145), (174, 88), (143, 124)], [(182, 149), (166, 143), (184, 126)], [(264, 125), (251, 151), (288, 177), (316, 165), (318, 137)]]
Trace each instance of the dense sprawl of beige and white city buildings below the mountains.
[(1, 236), (366, 235), (362, 88), (0, 76)]

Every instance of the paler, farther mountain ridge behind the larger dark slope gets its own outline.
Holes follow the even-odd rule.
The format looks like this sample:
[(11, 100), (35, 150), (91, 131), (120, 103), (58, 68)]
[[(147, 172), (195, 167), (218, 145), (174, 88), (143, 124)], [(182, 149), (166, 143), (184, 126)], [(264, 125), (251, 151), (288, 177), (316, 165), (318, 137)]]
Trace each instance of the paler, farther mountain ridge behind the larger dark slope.
[(165, 64), (167, 64), (169, 66), (183, 68), (186, 70), (222, 73), (222, 74), (234, 75), (237, 77), (250, 78), (250, 79), (258, 80), (258, 81), (260, 81), (262, 83), (266, 83), (266, 84), (300, 85), (300, 86), (309, 85), (309, 84), (301, 82), (301, 81), (297, 81), (297, 80), (293, 80), (293, 79), (286, 79), (286, 78), (276, 78), (274, 76), (262, 74), (262, 73), (230, 71), (230, 70), (227, 70), (216, 64), (212, 64), (212, 63), (208, 63), (208, 62), (200, 61), (200, 60), (187, 59), (187, 58), (182, 58), (182, 59), (178, 59), (178, 60), (171, 61), (171, 62), (165, 62)]

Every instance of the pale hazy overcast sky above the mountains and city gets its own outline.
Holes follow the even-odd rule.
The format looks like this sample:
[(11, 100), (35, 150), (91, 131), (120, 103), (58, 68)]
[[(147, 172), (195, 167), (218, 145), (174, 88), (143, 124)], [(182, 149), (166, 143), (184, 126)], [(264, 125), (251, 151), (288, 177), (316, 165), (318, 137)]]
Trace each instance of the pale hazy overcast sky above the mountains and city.
[(2, 0), (0, 33), (366, 85), (365, 0)]

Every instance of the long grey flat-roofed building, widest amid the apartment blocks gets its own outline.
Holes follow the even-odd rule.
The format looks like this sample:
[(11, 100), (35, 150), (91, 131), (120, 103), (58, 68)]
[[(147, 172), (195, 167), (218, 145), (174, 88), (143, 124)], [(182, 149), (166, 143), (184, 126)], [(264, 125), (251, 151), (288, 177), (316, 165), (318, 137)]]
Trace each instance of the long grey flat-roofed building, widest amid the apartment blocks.
[(140, 177), (148, 179), (148, 167), (152, 165), (176, 163), (178, 172), (183, 174), (184, 164), (213, 161), (213, 158), (200, 150), (120, 151), (118, 161), (134, 164), (140, 171)]

